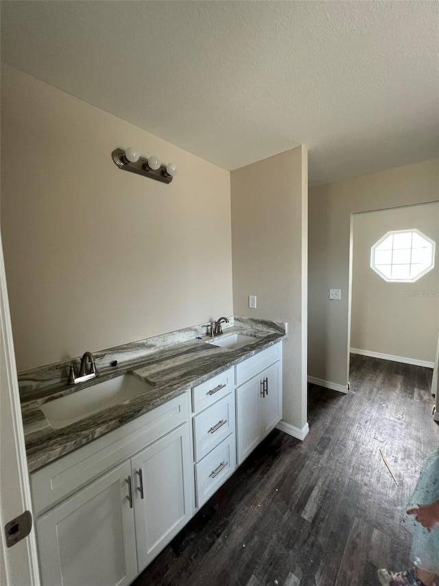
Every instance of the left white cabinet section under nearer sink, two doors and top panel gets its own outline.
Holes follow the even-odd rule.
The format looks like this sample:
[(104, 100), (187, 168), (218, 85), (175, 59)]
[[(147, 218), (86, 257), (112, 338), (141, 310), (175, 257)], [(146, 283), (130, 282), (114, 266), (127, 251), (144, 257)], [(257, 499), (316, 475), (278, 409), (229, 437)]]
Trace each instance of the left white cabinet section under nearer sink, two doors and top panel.
[(88, 477), (36, 519), (43, 586), (130, 584), (192, 516), (190, 458), (185, 393), (31, 475), (35, 512)]

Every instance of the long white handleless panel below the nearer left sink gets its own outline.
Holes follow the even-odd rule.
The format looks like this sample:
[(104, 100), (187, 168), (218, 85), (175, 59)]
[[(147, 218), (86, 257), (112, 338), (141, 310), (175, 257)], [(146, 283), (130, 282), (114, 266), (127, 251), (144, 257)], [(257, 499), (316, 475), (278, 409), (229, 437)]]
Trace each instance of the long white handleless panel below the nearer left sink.
[(34, 514), (73, 494), (188, 420), (187, 393), (29, 475)]

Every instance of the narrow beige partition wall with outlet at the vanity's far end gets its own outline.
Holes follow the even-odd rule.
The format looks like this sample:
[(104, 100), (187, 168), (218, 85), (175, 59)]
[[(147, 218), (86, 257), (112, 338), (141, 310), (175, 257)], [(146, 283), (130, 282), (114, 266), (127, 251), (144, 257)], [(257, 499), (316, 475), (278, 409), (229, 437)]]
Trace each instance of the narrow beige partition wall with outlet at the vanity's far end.
[(307, 176), (302, 146), (231, 173), (234, 313), (288, 322), (283, 420), (298, 429), (307, 422)]

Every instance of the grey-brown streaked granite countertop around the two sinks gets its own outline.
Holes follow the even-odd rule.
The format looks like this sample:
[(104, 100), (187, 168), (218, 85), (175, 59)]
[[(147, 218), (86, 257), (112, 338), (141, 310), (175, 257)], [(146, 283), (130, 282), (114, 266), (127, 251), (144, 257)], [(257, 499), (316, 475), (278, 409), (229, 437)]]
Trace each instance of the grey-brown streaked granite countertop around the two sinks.
[[(235, 318), (234, 325), (225, 329), (223, 336), (230, 333), (254, 337), (254, 342), (237, 350), (227, 350), (206, 343), (212, 341), (206, 336), (175, 343), (178, 337), (171, 333), (160, 338), (161, 343), (156, 346), (156, 350), (146, 355), (131, 352), (130, 359), (116, 367), (99, 368), (99, 376), (86, 383), (73, 386), (64, 381), (25, 389), (25, 392), (21, 392), (21, 411), (29, 472), (36, 471), (62, 455), (117, 429), (186, 392), (189, 387), (198, 385), (272, 346), (286, 337), (286, 327), (278, 322)], [(169, 346), (166, 345), (167, 340)], [(114, 355), (116, 349), (111, 350)], [(92, 387), (93, 384), (122, 374), (132, 374), (145, 381), (147, 390), (61, 429), (51, 427), (39, 408), (46, 401)], [(93, 392), (92, 388), (90, 392)]]

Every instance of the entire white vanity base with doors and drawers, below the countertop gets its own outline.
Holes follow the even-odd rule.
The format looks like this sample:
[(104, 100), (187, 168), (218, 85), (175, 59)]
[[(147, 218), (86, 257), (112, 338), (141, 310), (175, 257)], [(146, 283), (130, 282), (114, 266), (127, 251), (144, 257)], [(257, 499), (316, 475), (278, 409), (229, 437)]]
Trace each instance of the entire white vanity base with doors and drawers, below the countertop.
[(132, 583), (281, 419), (281, 381), (279, 342), (32, 473), (43, 586)]

